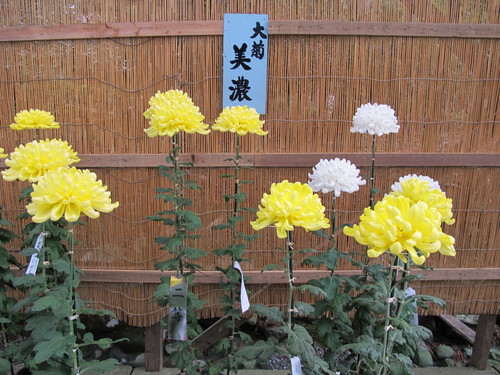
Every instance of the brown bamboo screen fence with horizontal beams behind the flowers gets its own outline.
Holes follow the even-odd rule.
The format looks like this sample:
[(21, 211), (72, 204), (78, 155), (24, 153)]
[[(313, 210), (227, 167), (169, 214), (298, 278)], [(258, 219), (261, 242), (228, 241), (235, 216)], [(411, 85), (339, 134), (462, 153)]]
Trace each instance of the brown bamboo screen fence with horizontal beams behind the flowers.
[[(23, 109), (52, 112), (61, 128), (42, 138), (67, 140), (80, 167), (95, 171), (119, 209), (79, 227), (78, 264), (85, 270), (80, 293), (97, 307), (114, 310), (138, 326), (155, 324), (164, 311), (152, 302), (159, 281), (154, 264), (165, 255), (154, 237), (165, 229), (145, 219), (164, 206), (154, 188), (165, 186), (156, 166), (164, 163), (169, 139), (148, 138), (143, 112), (157, 91), (186, 91), (212, 123), (222, 110), (222, 19), (224, 13), (269, 15), (269, 77), (265, 137), (245, 136), (246, 205), (257, 207), (272, 182), (307, 181), (320, 158), (347, 157), (366, 174), (370, 139), (350, 133), (352, 116), (367, 102), (395, 108), (398, 134), (377, 140), (378, 198), (408, 173), (438, 180), (453, 199), (457, 256), (433, 256), (426, 281), (415, 288), (448, 302), (449, 313), (500, 309), (499, 234), (499, 0), (3, 0), (0, 4), (0, 146), (7, 152), (33, 140), (9, 124)], [(194, 291), (218, 309), (220, 277), (210, 255), (228, 234), (213, 226), (230, 215), (222, 198), (231, 182), (224, 161), (234, 150), (231, 135), (183, 135), (188, 173), (203, 190), (194, 211), (203, 220), (193, 245), (209, 255), (201, 261)], [(4, 168), (3, 161), (0, 168)], [(77, 165), (78, 166), (78, 165)], [(24, 210), (18, 202), (27, 184), (0, 181), (7, 219)], [(368, 189), (337, 200), (339, 222), (356, 222), (368, 205)], [(331, 207), (331, 197), (324, 197)], [(246, 217), (245, 225), (252, 220)], [(281, 273), (261, 267), (282, 257), (274, 230), (251, 244), (251, 301), (286, 304)], [(297, 230), (297, 248), (325, 245)], [(339, 236), (339, 247), (362, 247)], [(11, 245), (16, 252), (19, 243)], [(226, 262), (226, 264), (224, 263)], [(297, 262), (305, 282), (321, 271)], [(340, 272), (354, 270), (346, 263)], [(281, 281), (280, 281), (281, 280)], [(215, 285), (214, 285), (215, 284)], [(431, 308), (427, 313), (440, 310)]]

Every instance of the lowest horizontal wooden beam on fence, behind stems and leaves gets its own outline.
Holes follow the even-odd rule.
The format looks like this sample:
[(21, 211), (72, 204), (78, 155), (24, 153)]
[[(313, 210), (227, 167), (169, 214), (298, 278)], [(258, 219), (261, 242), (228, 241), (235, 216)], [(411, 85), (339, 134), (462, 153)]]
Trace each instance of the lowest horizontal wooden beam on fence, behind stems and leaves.
[[(158, 284), (163, 276), (172, 276), (174, 271), (161, 272), (157, 270), (112, 270), (83, 269), (82, 281), (103, 283), (146, 283)], [(358, 275), (360, 271), (336, 271), (338, 275)], [(413, 274), (422, 274), (425, 281), (458, 281), (458, 280), (500, 280), (500, 268), (438, 268), (434, 270), (412, 270)], [(245, 271), (249, 277), (247, 284), (287, 284), (288, 278), (284, 271)], [(327, 277), (329, 271), (294, 270), (293, 276), (298, 284), (309, 280)], [(195, 274), (197, 284), (219, 284), (224, 276), (219, 271), (200, 271)]]

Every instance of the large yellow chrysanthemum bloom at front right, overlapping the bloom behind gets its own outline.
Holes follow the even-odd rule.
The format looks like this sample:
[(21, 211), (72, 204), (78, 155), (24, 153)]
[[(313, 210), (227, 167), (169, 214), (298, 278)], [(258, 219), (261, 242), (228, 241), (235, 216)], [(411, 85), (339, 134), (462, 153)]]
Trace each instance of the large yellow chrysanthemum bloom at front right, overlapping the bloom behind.
[(390, 251), (406, 262), (408, 253), (420, 265), (438, 251), (456, 254), (455, 239), (441, 229), (441, 215), (425, 202), (402, 196), (386, 195), (373, 209), (365, 208), (359, 225), (344, 227), (344, 234), (367, 245), (371, 258)]

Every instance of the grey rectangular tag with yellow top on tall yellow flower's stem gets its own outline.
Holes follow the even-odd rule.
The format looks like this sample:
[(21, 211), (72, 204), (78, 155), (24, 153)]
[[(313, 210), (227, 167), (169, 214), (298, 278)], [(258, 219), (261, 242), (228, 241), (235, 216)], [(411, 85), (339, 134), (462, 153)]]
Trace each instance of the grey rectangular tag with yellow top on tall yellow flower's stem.
[(170, 278), (168, 297), (168, 339), (187, 340), (187, 280), (184, 277)]

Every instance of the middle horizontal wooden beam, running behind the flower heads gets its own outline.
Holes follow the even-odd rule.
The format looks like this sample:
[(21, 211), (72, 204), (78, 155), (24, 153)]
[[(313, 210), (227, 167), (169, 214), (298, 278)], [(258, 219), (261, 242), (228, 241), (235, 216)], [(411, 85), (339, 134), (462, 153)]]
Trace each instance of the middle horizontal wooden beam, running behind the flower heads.
[[(166, 164), (164, 154), (80, 154), (78, 168), (147, 168)], [(345, 158), (358, 167), (368, 167), (371, 154), (361, 153), (285, 153), (285, 154), (241, 154), (241, 166), (263, 168), (293, 168), (315, 166), (320, 159)], [(182, 162), (191, 162), (193, 167), (229, 167), (226, 159), (233, 154), (182, 154)], [(5, 159), (0, 159), (0, 168), (6, 168)], [(378, 153), (377, 167), (500, 167), (500, 154), (441, 154), (441, 153)]]

